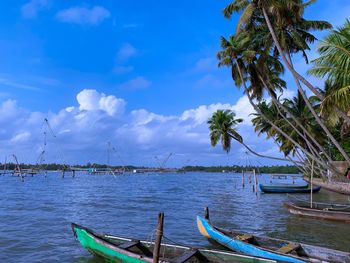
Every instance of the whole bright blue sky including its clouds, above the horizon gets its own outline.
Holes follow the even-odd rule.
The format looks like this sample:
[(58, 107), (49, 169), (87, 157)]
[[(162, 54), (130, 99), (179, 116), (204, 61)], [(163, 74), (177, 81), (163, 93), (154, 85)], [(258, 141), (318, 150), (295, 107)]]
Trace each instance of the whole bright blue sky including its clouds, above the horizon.
[[(237, 20), (223, 18), (228, 2), (2, 1), (0, 158), (36, 162), (48, 118), (57, 136), (46, 161), (106, 162), (110, 141), (120, 154), (114, 164), (156, 165), (154, 156), (170, 152), (173, 166), (244, 162), (238, 144), (229, 156), (209, 145), (205, 121), (220, 107), (246, 117), (248, 144), (278, 154), (254, 135), (249, 104), (216, 66), (219, 37)], [(340, 25), (345, 2), (319, 0), (306, 17)]]

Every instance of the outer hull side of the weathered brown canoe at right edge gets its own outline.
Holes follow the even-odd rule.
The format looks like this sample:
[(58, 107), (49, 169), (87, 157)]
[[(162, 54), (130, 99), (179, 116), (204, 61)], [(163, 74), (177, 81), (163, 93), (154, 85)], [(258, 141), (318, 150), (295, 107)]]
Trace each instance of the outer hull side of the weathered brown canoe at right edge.
[(284, 203), (284, 206), (289, 210), (290, 213), (299, 216), (342, 221), (350, 223), (350, 212), (332, 211), (332, 210), (321, 210), (310, 207), (298, 206), (292, 202)]

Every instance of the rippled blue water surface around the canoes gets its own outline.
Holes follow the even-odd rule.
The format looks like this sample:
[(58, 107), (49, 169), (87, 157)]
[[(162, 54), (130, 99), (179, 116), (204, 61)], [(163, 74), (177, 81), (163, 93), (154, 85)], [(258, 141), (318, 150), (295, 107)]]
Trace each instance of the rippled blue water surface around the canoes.
[[(168, 238), (210, 246), (195, 222), (205, 206), (221, 227), (350, 251), (349, 224), (293, 216), (282, 206), (286, 195), (255, 196), (251, 185), (242, 188), (239, 174), (78, 174), (62, 179), (52, 173), (25, 182), (1, 176), (0, 182), (0, 262), (101, 262), (74, 239), (71, 222), (149, 240), (160, 211)], [(325, 190), (315, 200), (348, 202)]]

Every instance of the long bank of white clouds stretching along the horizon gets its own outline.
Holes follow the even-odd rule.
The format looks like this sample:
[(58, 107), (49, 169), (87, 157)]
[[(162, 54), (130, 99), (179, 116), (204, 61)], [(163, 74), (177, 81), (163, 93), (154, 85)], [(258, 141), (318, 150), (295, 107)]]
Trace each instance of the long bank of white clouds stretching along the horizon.
[[(232, 109), (237, 117), (248, 117), (252, 112), (245, 97), (235, 104), (200, 105), (177, 115), (157, 114), (147, 109), (125, 112), (123, 99), (94, 89), (82, 90), (76, 99), (76, 105), (48, 113), (22, 109), (13, 100), (2, 102), (0, 157), (15, 153), (20, 162), (35, 162), (35, 153), (39, 155), (43, 149), (46, 129), (47, 162), (103, 163), (110, 141), (120, 155), (111, 158), (113, 164), (120, 164), (121, 157), (124, 163), (156, 166), (154, 156), (170, 152), (174, 153), (172, 158), (176, 166), (183, 165), (193, 156), (197, 160), (191, 162), (193, 164), (222, 164), (227, 162), (227, 156), (220, 146), (210, 146), (207, 119), (217, 109)], [(43, 125), (44, 118), (49, 120), (55, 136)], [(239, 125), (238, 130), (245, 142), (261, 153), (266, 149), (277, 152), (271, 142), (254, 135), (249, 121)], [(237, 163), (245, 150), (238, 143), (234, 144), (231, 158)]]

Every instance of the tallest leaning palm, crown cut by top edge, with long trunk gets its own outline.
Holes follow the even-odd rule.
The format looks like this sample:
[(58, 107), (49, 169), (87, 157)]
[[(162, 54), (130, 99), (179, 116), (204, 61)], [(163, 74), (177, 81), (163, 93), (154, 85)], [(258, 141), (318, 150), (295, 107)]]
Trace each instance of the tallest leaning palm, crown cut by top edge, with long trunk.
[[(309, 33), (310, 30), (331, 27), (329, 23), (324, 21), (308, 21), (303, 18), (305, 7), (312, 2), (303, 3), (302, 0), (235, 0), (224, 9), (224, 15), (229, 18), (233, 12), (243, 11), (238, 23), (238, 31), (242, 29), (249, 31), (256, 26), (264, 27), (264, 24), (266, 24), (270, 32), (268, 36), (272, 37), (274, 43), (274, 47), (271, 46), (270, 48), (274, 50), (274, 54), (279, 53), (287, 68), (292, 72), (298, 90), (317, 123), (322, 127), (344, 159), (350, 164), (348, 154), (315, 112), (299, 81), (303, 82), (320, 99), (323, 99), (323, 94), (298, 74), (292, 64), (292, 53), (302, 52), (306, 57), (305, 50), (309, 49), (308, 43), (312, 43), (315, 40), (315, 37)], [(266, 45), (272, 42), (264, 40), (262, 43)], [(266, 49), (268, 47), (262, 46), (261, 48)], [(339, 111), (343, 118), (349, 119), (343, 111)]]

